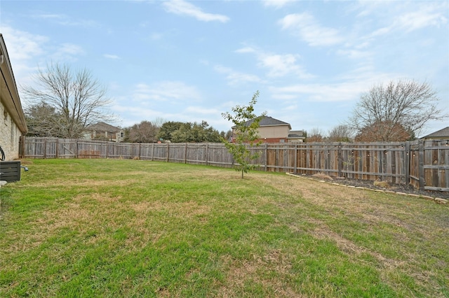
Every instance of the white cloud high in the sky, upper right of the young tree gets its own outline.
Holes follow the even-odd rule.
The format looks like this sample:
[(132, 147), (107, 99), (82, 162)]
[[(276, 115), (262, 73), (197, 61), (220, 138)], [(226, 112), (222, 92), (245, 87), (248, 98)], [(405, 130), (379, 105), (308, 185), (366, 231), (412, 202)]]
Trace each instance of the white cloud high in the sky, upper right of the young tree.
[(335, 45), (344, 41), (344, 38), (340, 36), (340, 31), (321, 26), (309, 13), (286, 15), (279, 20), (279, 24), (283, 30), (293, 31), (293, 34), (311, 46)]

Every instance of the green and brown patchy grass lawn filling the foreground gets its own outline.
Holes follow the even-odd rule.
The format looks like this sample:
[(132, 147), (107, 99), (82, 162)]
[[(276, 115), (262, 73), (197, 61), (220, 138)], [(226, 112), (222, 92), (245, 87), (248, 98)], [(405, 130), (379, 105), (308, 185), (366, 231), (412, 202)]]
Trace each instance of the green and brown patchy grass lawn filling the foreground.
[(449, 206), (281, 173), (30, 160), (0, 297), (449, 297)]

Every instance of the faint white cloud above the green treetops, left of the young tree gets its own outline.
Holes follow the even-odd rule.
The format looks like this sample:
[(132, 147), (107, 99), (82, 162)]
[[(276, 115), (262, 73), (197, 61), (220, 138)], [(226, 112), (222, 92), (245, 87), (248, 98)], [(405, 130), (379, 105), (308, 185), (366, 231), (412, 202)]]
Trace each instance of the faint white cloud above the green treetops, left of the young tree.
[(162, 81), (151, 85), (135, 85), (133, 99), (137, 101), (189, 101), (201, 99), (199, 91), (194, 86), (178, 81)]

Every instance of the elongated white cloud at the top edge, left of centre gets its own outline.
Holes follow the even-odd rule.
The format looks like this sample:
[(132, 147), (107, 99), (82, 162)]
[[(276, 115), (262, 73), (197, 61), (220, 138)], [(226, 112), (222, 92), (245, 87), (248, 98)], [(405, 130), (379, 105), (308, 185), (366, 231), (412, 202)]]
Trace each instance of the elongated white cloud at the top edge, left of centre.
[(175, 13), (176, 15), (189, 15), (191, 17), (195, 17), (196, 20), (203, 22), (218, 21), (225, 23), (229, 21), (229, 17), (226, 15), (204, 13), (201, 8), (198, 8), (192, 3), (184, 0), (164, 1), (162, 6), (166, 8), (168, 13)]

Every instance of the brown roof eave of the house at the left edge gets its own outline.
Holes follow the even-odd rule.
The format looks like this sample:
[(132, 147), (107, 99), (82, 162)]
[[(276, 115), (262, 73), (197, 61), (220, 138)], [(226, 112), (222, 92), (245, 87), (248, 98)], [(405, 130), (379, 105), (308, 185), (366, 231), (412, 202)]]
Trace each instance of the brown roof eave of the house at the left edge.
[(6, 110), (11, 115), (15, 125), (22, 134), (27, 134), (27, 122), (20, 104), (19, 92), (15, 85), (15, 78), (11, 62), (9, 61), (8, 51), (6, 50), (3, 35), (0, 33), (0, 69), (1, 69), (1, 101), (3, 101)]

